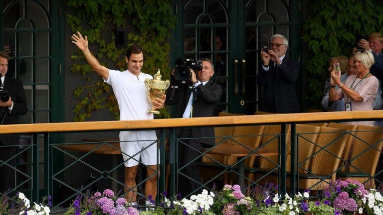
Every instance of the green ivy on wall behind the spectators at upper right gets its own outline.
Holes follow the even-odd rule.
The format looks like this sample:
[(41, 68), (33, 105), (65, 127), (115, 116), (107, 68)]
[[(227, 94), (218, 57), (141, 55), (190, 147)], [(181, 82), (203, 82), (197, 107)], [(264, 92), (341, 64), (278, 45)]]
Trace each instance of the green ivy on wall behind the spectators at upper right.
[[(357, 40), (383, 32), (383, 5), (380, 0), (313, 1), (303, 25), (302, 39), (312, 53), (305, 62), (309, 73), (308, 97), (311, 108), (319, 108), (330, 57), (349, 56)], [(360, 36), (361, 35), (361, 36)]]

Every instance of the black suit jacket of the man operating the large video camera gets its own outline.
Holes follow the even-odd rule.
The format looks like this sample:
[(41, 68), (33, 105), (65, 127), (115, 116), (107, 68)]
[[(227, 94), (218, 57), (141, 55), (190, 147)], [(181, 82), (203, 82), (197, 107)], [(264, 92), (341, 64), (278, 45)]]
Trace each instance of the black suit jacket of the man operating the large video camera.
[[(192, 84), (178, 84), (173, 78), (171, 80), (171, 86), (178, 86), (179, 89), (169, 89), (166, 95), (166, 105), (176, 105), (177, 112), (176, 117), (182, 118), (185, 109), (188, 105), (190, 95), (193, 93), (193, 103), (192, 103), (192, 117), (208, 117), (213, 116), (215, 104), (218, 103), (221, 99), (222, 88), (220, 85), (212, 83), (211, 81), (207, 82), (204, 86), (203, 84), (198, 85), (196, 88), (192, 87)], [(172, 91), (174, 95), (172, 95)], [(176, 129), (175, 136), (180, 135), (181, 129)], [(192, 136), (194, 138), (198, 137), (213, 137), (214, 128), (212, 127), (192, 127)], [(200, 142), (207, 145), (214, 145), (214, 138), (201, 138), (194, 139), (196, 142)]]

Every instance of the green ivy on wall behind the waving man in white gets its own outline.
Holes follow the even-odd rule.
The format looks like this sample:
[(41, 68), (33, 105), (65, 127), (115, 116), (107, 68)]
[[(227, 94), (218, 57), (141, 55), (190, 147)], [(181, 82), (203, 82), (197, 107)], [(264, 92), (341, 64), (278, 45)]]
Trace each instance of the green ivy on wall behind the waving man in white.
[[(171, 0), (145, 0), (145, 3), (142, 0), (69, 0), (68, 6), (75, 11), (67, 15), (73, 33), (79, 31), (87, 35), (89, 49), (102, 65), (126, 70), (126, 47), (117, 48), (115, 43), (115, 30), (123, 29), (127, 32), (127, 47), (139, 44), (144, 50), (142, 71), (153, 75), (161, 69), (164, 79), (169, 79), (168, 39), (176, 25)], [(75, 60), (72, 73), (82, 76), (87, 82), (72, 94), (72, 101), (76, 104), (73, 120), (84, 121), (94, 111), (103, 108), (119, 119), (119, 108), (111, 86), (94, 75), (81, 51), (72, 59)], [(166, 108), (157, 117), (169, 117)]]

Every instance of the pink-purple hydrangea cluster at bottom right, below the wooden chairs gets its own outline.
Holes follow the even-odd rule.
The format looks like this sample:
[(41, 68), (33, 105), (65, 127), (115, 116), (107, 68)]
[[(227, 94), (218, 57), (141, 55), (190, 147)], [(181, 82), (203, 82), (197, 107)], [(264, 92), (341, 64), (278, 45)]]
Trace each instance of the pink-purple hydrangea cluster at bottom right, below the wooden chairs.
[(363, 199), (369, 194), (364, 185), (355, 180), (337, 180), (326, 187), (323, 203), (332, 205), (335, 215), (363, 213)]

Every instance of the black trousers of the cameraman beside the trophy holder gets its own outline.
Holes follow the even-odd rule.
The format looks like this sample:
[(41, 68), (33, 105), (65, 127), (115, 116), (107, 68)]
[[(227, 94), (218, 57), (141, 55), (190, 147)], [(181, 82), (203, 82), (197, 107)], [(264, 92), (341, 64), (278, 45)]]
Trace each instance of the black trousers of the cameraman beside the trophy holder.
[(197, 164), (201, 159), (195, 158), (200, 156), (203, 144), (192, 139), (191, 129), (183, 129), (179, 138), (191, 138), (181, 140), (182, 142), (179, 141), (177, 144), (178, 168), (181, 169), (180, 172), (182, 174), (186, 175), (183, 176), (182, 174), (178, 174), (178, 191), (181, 193), (182, 197), (188, 197), (200, 193), (199, 191), (201, 190), (200, 185), (198, 184), (201, 182), (201, 179), (197, 167)]

